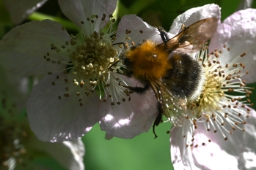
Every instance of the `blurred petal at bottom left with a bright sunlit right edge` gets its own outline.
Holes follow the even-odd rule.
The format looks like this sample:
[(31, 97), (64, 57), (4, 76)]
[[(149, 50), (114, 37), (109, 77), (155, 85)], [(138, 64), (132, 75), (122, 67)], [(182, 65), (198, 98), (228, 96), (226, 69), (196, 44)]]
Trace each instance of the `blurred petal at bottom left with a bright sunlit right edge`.
[(36, 150), (47, 152), (52, 158), (70, 170), (84, 170), (84, 144), (81, 139), (62, 143), (41, 142), (31, 139), (30, 146)]

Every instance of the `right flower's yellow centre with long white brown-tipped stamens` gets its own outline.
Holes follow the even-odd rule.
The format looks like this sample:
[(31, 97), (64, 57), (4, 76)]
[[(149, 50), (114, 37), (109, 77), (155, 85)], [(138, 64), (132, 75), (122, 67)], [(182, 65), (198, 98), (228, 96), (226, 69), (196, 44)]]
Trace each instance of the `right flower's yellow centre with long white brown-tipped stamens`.
[[(246, 87), (241, 77), (248, 72), (244, 72), (243, 63), (238, 63), (238, 59), (244, 57), (246, 53), (234, 58), (230, 63), (223, 63), (219, 60), (221, 57), (229, 56), (230, 48), (215, 50), (213, 53), (205, 55), (203, 50), (197, 55), (197, 60), (202, 62), (205, 69), (205, 84), (201, 95), (196, 101), (188, 104), (189, 124), (192, 125), (191, 139), (187, 139), (187, 147), (193, 146), (194, 132), (198, 131), (198, 123), (204, 123), (207, 131), (216, 133), (220, 131), (224, 139), (227, 140), (227, 134), (233, 134), (235, 129), (245, 131), (242, 126), (246, 123), (241, 115), (249, 117), (252, 106), (250, 100), (246, 99), (252, 94), (252, 89)], [(186, 136), (187, 131), (183, 132)], [(211, 142), (211, 139), (209, 139)], [(203, 142), (203, 145), (205, 142)], [(198, 144), (194, 145), (198, 146)]]

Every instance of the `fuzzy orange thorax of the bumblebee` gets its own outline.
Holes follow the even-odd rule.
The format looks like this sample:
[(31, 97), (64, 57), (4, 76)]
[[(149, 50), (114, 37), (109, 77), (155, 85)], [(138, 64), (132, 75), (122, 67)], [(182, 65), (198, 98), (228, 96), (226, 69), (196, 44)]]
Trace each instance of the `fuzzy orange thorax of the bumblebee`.
[(134, 78), (138, 80), (160, 80), (171, 68), (169, 53), (157, 47), (157, 43), (147, 40), (134, 50), (128, 50), (126, 58), (132, 63)]

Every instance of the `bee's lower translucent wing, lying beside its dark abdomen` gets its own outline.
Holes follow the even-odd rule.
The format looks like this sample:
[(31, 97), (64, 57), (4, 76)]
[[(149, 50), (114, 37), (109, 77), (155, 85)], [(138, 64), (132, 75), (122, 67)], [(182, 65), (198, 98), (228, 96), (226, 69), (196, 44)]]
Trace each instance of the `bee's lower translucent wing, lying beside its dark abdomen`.
[(151, 82), (163, 114), (175, 126), (183, 125), (186, 118), (186, 96), (177, 85), (172, 82)]

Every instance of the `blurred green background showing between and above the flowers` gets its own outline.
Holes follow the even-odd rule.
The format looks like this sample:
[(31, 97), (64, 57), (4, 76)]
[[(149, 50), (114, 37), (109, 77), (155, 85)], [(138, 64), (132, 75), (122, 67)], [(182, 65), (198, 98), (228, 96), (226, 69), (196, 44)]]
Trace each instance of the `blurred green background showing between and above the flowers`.
[[(117, 20), (123, 15), (136, 14), (151, 25), (164, 27), (167, 31), (172, 21), (181, 13), (191, 7), (199, 7), (204, 4), (219, 4), (222, 7), (222, 20), (227, 18), (238, 9), (240, 0), (120, 0), (117, 6)], [(252, 7), (256, 3), (252, 4)], [(1, 8), (0, 8), (1, 9)], [(7, 17), (7, 13), (3, 14), (1, 10), (1, 18)], [(43, 15), (42, 15), (43, 14)], [(67, 18), (62, 15), (56, 0), (47, 1), (43, 7), (32, 14), (29, 19), (43, 19), (53, 17), (65, 24), (67, 31), (76, 32), (73, 25), (66, 22)], [(24, 22), (28, 22), (26, 20)], [(4, 32), (12, 28), (12, 25), (4, 27)], [(249, 85), (256, 87), (256, 83)], [(256, 103), (256, 98), (251, 98)], [(256, 109), (256, 107), (254, 107)], [(131, 170), (131, 169), (172, 169), (169, 154), (169, 131), (171, 125), (163, 123), (156, 128), (158, 134), (157, 139), (153, 139), (153, 132), (149, 132), (136, 136), (134, 139), (104, 139), (105, 133), (100, 131), (100, 127), (96, 124), (89, 133), (83, 137), (86, 147), (86, 155), (84, 163), (86, 169), (111, 169), (111, 170)], [(61, 169), (56, 161), (40, 158), (38, 162), (48, 163), (54, 169)]]

